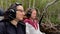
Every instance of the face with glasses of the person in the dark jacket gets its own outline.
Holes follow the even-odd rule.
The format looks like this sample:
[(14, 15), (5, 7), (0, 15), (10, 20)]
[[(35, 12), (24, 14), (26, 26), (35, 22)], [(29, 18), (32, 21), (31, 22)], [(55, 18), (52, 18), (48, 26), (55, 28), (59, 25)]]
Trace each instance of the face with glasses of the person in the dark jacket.
[(21, 5), (17, 6), (16, 19), (23, 20), (24, 14), (25, 13), (24, 13), (23, 6)]

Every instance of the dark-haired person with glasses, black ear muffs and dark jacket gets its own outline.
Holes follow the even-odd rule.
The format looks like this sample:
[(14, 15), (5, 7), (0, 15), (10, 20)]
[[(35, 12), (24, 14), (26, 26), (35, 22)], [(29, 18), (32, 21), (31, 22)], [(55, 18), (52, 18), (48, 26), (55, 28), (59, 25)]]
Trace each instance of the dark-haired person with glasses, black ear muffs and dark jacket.
[(26, 34), (23, 17), (22, 4), (12, 4), (5, 12), (4, 19), (0, 21), (0, 34)]

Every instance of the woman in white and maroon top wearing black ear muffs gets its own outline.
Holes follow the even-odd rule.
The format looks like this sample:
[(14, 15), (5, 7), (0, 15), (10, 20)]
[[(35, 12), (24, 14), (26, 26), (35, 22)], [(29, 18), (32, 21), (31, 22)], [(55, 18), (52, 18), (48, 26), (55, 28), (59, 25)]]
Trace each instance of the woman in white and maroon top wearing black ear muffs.
[(30, 8), (27, 10), (27, 18), (24, 20), (26, 24), (26, 34), (42, 34), (39, 30), (39, 24), (36, 14), (37, 10), (34, 8)]

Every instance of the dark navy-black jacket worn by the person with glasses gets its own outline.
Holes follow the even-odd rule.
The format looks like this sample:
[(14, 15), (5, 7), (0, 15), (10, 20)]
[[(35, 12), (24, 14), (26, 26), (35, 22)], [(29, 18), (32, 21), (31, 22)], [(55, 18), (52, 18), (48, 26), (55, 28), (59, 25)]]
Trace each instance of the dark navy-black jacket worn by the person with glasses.
[(0, 34), (26, 34), (25, 24), (20, 21), (15, 27), (10, 22), (0, 21)]

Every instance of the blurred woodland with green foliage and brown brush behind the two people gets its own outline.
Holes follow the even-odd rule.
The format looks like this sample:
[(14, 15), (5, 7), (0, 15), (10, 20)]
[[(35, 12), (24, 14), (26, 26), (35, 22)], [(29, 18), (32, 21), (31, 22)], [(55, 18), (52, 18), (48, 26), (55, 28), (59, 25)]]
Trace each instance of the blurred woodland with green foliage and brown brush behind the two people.
[(37, 8), (38, 18), (44, 13), (41, 31), (48, 34), (60, 34), (60, 0), (0, 0), (0, 8), (4, 11), (15, 2), (22, 3), (27, 8)]

